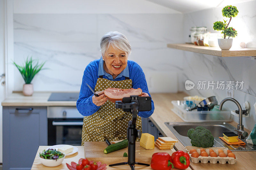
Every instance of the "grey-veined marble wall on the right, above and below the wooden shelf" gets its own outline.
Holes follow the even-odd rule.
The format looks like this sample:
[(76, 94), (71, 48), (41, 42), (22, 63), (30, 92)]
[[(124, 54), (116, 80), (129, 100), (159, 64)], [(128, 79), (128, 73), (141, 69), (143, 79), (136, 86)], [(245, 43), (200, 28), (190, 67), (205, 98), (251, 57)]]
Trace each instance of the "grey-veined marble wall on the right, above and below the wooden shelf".
[[(235, 5), (239, 11), (237, 17), (232, 18), (230, 26), (238, 32), (238, 37), (234, 39), (234, 45), (240, 42), (256, 41), (256, 1), (244, 2)], [(220, 21), (224, 17), (220, 8), (213, 8), (203, 11), (184, 14), (184, 41), (188, 41), (191, 26), (207, 26), (208, 31), (213, 31), (212, 25), (215, 21)], [(186, 28), (186, 29), (185, 29)], [(183, 87), (186, 80), (197, 84), (198, 81), (244, 81), (242, 90), (234, 90), (235, 99), (242, 105), (244, 101), (251, 104), (250, 117), (243, 118), (246, 128), (252, 130), (256, 122), (256, 115), (253, 104), (256, 101), (256, 60), (249, 57), (217, 57), (200, 53), (183, 52)], [(216, 87), (216, 86), (215, 86)], [(205, 88), (206, 89), (206, 88)], [(197, 86), (192, 90), (185, 90), (190, 95), (211, 96), (215, 95), (218, 102), (226, 97), (226, 90), (214, 89), (197, 90)], [(224, 104), (229, 110), (237, 109), (231, 102)], [(223, 106), (223, 107), (224, 107)], [(238, 122), (238, 117), (235, 118)]]

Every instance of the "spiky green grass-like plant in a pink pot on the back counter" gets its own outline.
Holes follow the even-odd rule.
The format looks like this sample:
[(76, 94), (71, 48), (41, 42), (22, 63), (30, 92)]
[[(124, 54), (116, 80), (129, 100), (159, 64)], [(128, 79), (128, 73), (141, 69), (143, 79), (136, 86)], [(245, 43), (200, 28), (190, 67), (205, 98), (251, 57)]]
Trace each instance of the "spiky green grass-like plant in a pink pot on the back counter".
[[(45, 63), (45, 62), (44, 62)], [(35, 77), (35, 75), (45, 69), (42, 68), (44, 66), (44, 63), (39, 64), (38, 61), (33, 60), (32, 57), (26, 59), (25, 65), (21, 66), (12, 61), (12, 64), (18, 68), (20, 71), (20, 74), (22, 75), (22, 78), (25, 81), (25, 84), (23, 85), (23, 95), (25, 96), (31, 96), (34, 92), (33, 90), (33, 84), (31, 84), (31, 81)]]

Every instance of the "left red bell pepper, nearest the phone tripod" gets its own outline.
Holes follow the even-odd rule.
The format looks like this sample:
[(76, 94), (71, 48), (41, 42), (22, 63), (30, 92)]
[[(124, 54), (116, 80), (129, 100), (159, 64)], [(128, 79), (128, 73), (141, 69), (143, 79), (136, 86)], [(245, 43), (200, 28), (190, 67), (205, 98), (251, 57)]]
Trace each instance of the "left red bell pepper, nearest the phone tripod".
[(169, 153), (157, 152), (152, 155), (151, 168), (154, 170), (169, 170), (173, 168), (172, 158)]

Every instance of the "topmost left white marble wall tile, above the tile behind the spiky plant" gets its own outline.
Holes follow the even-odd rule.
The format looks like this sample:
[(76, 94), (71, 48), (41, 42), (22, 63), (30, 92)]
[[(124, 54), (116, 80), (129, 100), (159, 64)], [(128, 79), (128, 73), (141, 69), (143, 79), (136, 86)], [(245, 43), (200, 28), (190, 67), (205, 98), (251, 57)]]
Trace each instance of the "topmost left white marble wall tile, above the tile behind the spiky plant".
[(97, 42), (96, 14), (14, 14), (15, 42)]

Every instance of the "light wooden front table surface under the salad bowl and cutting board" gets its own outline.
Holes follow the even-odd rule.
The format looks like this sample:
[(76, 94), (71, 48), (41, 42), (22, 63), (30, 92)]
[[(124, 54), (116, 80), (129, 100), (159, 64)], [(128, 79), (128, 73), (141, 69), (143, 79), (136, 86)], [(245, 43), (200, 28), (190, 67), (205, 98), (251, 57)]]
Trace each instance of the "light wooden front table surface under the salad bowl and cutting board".
[[(66, 156), (61, 165), (55, 166), (55, 167), (47, 167), (47, 166), (44, 166), (41, 163), (41, 161), (40, 161), (40, 159), (38, 157), (39, 152), (42, 152), (47, 147), (49, 147), (49, 146), (39, 146), (31, 170), (36, 170), (36, 169), (49, 169), (49, 170), (68, 169), (66, 163), (71, 165), (72, 161), (78, 163), (78, 160), (80, 158), (85, 158), (85, 156), (84, 156), (84, 146), (76, 146), (78, 148), (78, 152), (76, 152), (73, 155)], [(174, 149), (172, 149), (172, 151), (175, 152)], [(102, 162), (102, 163), (104, 163), (104, 162)], [(145, 170), (151, 169), (150, 166), (141, 166), (141, 165), (135, 165), (135, 168), (136, 169), (143, 169), (143, 170), (144, 169)], [(121, 166), (112, 166), (112, 167), (111, 166), (107, 166), (107, 169), (109, 169), (109, 170), (130, 170), (131, 168), (128, 165), (121, 165)], [(175, 168), (173, 168), (173, 169), (175, 169)], [(191, 168), (188, 167), (187, 170), (191, 170)]]

